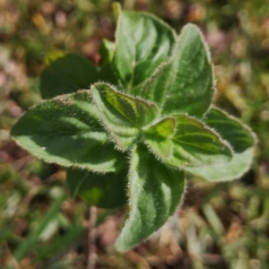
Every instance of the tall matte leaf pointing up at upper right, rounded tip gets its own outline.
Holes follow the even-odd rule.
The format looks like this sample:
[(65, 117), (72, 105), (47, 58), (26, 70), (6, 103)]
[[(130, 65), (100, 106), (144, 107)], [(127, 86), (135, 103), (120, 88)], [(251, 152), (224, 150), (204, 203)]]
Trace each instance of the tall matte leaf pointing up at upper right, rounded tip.
[(142, 98), (162, 107), (162, 115), (202, 117), (213, 100), (213, 66), (201, 31), (187, 24), (166, 64), (145, 84)]

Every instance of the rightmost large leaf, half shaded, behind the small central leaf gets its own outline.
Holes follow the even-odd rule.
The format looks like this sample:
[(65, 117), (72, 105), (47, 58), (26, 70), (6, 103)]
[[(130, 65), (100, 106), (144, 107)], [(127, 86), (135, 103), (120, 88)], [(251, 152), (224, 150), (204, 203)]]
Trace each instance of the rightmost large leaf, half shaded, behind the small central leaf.
[(213, 127), (234, 149), (233, 159), (225, 164), (216, 164), (203, 168), (186, 168), (195, 176), (213, 181), (227, 181), (242, 177), (253, 161), (255, 134), (239, 119), (231, 117), (220, 108), (211, 108), (204, 122)]

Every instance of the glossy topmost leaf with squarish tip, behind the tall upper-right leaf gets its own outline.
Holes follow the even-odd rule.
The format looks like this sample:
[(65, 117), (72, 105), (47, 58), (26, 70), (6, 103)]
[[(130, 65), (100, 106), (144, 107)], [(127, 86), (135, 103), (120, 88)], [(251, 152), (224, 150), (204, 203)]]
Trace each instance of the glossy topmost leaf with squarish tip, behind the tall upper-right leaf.
[(167, 59), (174, 43), (174, 31), (152, 14), (119, 13), (113, 64), (127, 93), (140, 94), (141, 85)]

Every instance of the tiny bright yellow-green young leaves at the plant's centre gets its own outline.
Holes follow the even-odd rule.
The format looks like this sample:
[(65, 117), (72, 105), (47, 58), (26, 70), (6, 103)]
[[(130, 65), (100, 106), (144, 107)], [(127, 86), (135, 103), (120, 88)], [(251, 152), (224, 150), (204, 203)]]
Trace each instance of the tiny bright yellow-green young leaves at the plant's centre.
[(170, 136), (174, 134), (175, 128), (175, 118), (163, 118), (145, 131), (144, 143), (148, 145), (149, 150), (157, 157), (167, 160), (173, 152), (173, 143), (170, 140)]

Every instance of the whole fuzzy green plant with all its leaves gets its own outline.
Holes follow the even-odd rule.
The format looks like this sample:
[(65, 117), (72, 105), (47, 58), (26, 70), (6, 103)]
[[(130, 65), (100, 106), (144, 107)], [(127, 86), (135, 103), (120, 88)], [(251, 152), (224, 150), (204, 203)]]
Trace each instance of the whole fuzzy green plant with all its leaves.
[(195, 25), (178, 37), (151, 14), (117, 13), (116, 42), (103, 42), (101, 66), (75, 54), (48, 58), (40, 90), (52, 99), (30, 108), (12, 135), (67, 167), (73, 196), (105, 208), (128, 201), (116, 243), (126, 251), (175, 213), (185, 172), (214, 181), (242, 176), (255, 136), (212, 105), (213, 66)]

